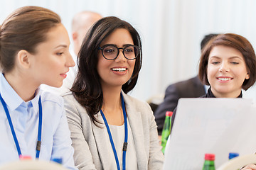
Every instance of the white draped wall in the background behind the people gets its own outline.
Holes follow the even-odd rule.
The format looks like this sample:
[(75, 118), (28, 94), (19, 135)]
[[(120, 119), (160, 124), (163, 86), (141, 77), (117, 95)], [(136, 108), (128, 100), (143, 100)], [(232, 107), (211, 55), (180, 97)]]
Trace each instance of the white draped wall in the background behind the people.
[[(256, 43), (255, 0), (0, 0), (0, 23), (20, 6), (50, 8), (70, 32), (79, 11), (117, 16), (142, 36), (143, 66), (131, 95), (146, 100), (197, 74), (200, 42), (208, 33), (238, 33)], [(256, 98), (256, 88), (244, 93)]]

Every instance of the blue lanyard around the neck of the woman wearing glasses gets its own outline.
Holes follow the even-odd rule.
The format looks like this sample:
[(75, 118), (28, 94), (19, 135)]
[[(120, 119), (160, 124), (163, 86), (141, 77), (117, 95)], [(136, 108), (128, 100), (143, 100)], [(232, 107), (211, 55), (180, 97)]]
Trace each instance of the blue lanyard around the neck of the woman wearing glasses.
[[(123, 110), (123, 115), (124, 115), (124, 145), (123, 145), (123, 154), (122, 154), (122, 169), (125, 170), (125, 156), (126, 156), (126, 152), (127, 152), (127, 139), (128, 139), (128, 128), (127, 128), (127, 115), (126, 115), (126, 111), (125, 111), (125, 107), (124, 107), (124, 98), (121, 94), (121, 100), (122, 100), (122, 110)], [(107, 124), (107, 119), (105, 118), (105, 115), (104, 113), (102, 112), (102, 110), (100, 110), (100, 113), (102, 115), (102, 118), (104, 120), (104, 123), (106, 125), (106, 128), (107, 128), (107, 133), (110, 137), (110, 143), (112, 145), (112, 149), (113, 149), (113, 152), (114, 152), (114, 158), (115, 158), (115, 161), (116, 161), (116, 164), (117, 164), (117, 169), (120, 170), (120, 166), (119, 166), (119, 161), (118, 161), (118, 157), (117, 157), (117, 151), (114, 147), (114, 141), (112, 139), (112, 135), (111, 135), (111, 132), (110, 132), (110, 127), (109, 125)]]

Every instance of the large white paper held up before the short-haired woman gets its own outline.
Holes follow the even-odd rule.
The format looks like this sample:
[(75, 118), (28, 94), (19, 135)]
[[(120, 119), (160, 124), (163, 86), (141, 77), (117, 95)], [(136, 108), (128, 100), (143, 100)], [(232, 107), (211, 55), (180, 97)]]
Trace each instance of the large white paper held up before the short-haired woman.
[(166, 145), (164, 169), (202, 169), (204, 155), (215, 167), (229, 152), (256, 152), (256, 107), (245, 98), (181, 98)]

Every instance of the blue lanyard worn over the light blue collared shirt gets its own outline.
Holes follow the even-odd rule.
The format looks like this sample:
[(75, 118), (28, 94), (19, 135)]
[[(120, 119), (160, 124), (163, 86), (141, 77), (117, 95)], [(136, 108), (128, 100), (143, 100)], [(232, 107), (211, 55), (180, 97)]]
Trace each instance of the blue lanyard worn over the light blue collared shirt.
[[(18, 151), (18, 157), (21, 157), (22, 156), (21, 148), (18, 145), (18, 139), (17, 139), (16, 133), (14, 131), (14, 125), (11, 122), (10, 113), (8, 111), (6, 103), (5, 103), (4, 99), (2, 98), (1, 94), (0, 94), (0, 100), (1, 100), (1, 103), (3, 104), (3, 106), (4, 106), (4, 111), (6, 113), (6, 117), (7, 117), (7, 120), (9, 122), (9, 125), (10, 125), (10, 128), (11, 128), (11, 134), (14, 137), (14, 142), (15, 142), (15, 145), (16, 145), (16, 148), (17, 148), (17, 151)], [(39, 107), (39, 123), (38, 123), (38, 142), (36, 143), (36, 158), (39, 158), (40, 149), (41, 149), (41, 135), (42, 135), (42, 133), (41, 133), (42, 132), (42, 102), (41, 102), (41, 96), (39, 96), (38, 107)]]

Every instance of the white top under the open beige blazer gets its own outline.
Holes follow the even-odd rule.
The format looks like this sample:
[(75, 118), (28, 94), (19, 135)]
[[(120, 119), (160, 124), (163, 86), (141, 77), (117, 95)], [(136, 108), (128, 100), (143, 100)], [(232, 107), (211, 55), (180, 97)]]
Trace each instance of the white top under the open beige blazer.
[[(137, 170), (138, 169), (137, 155), (135, 152), (134, 139), (133, 139), (132, 130), (129, 125), (128, 119), (127, 119), (127, 125), (128, 125), (128, 141), (127, 141), (128, 145), (127, 145), (126, 162), (125, 162), (126, 169), (127, 170), (129, 170), (129, 169)], [(123, 149), (123, 145), (124, 145), (124, 124), (121, 126), (117, 126), (117, 125), (109, 125), (109, 126), (110, 126), (112, 139), (114, 141), (114, 147), (117, 151), (117, 157), (119, 160), (120, 169), (122, 169), (122, 153), (123, 153), (122, 149)], [(110, 148), (110, 150), (113, 152), (110, 142), (107, 142), (107, 147)], [(114, 169), (117, 169), (117, 164), (114, 159), (114, 152), (113, 152), (113, 157), (110, 159), (110, 161), (112, 162)]]

